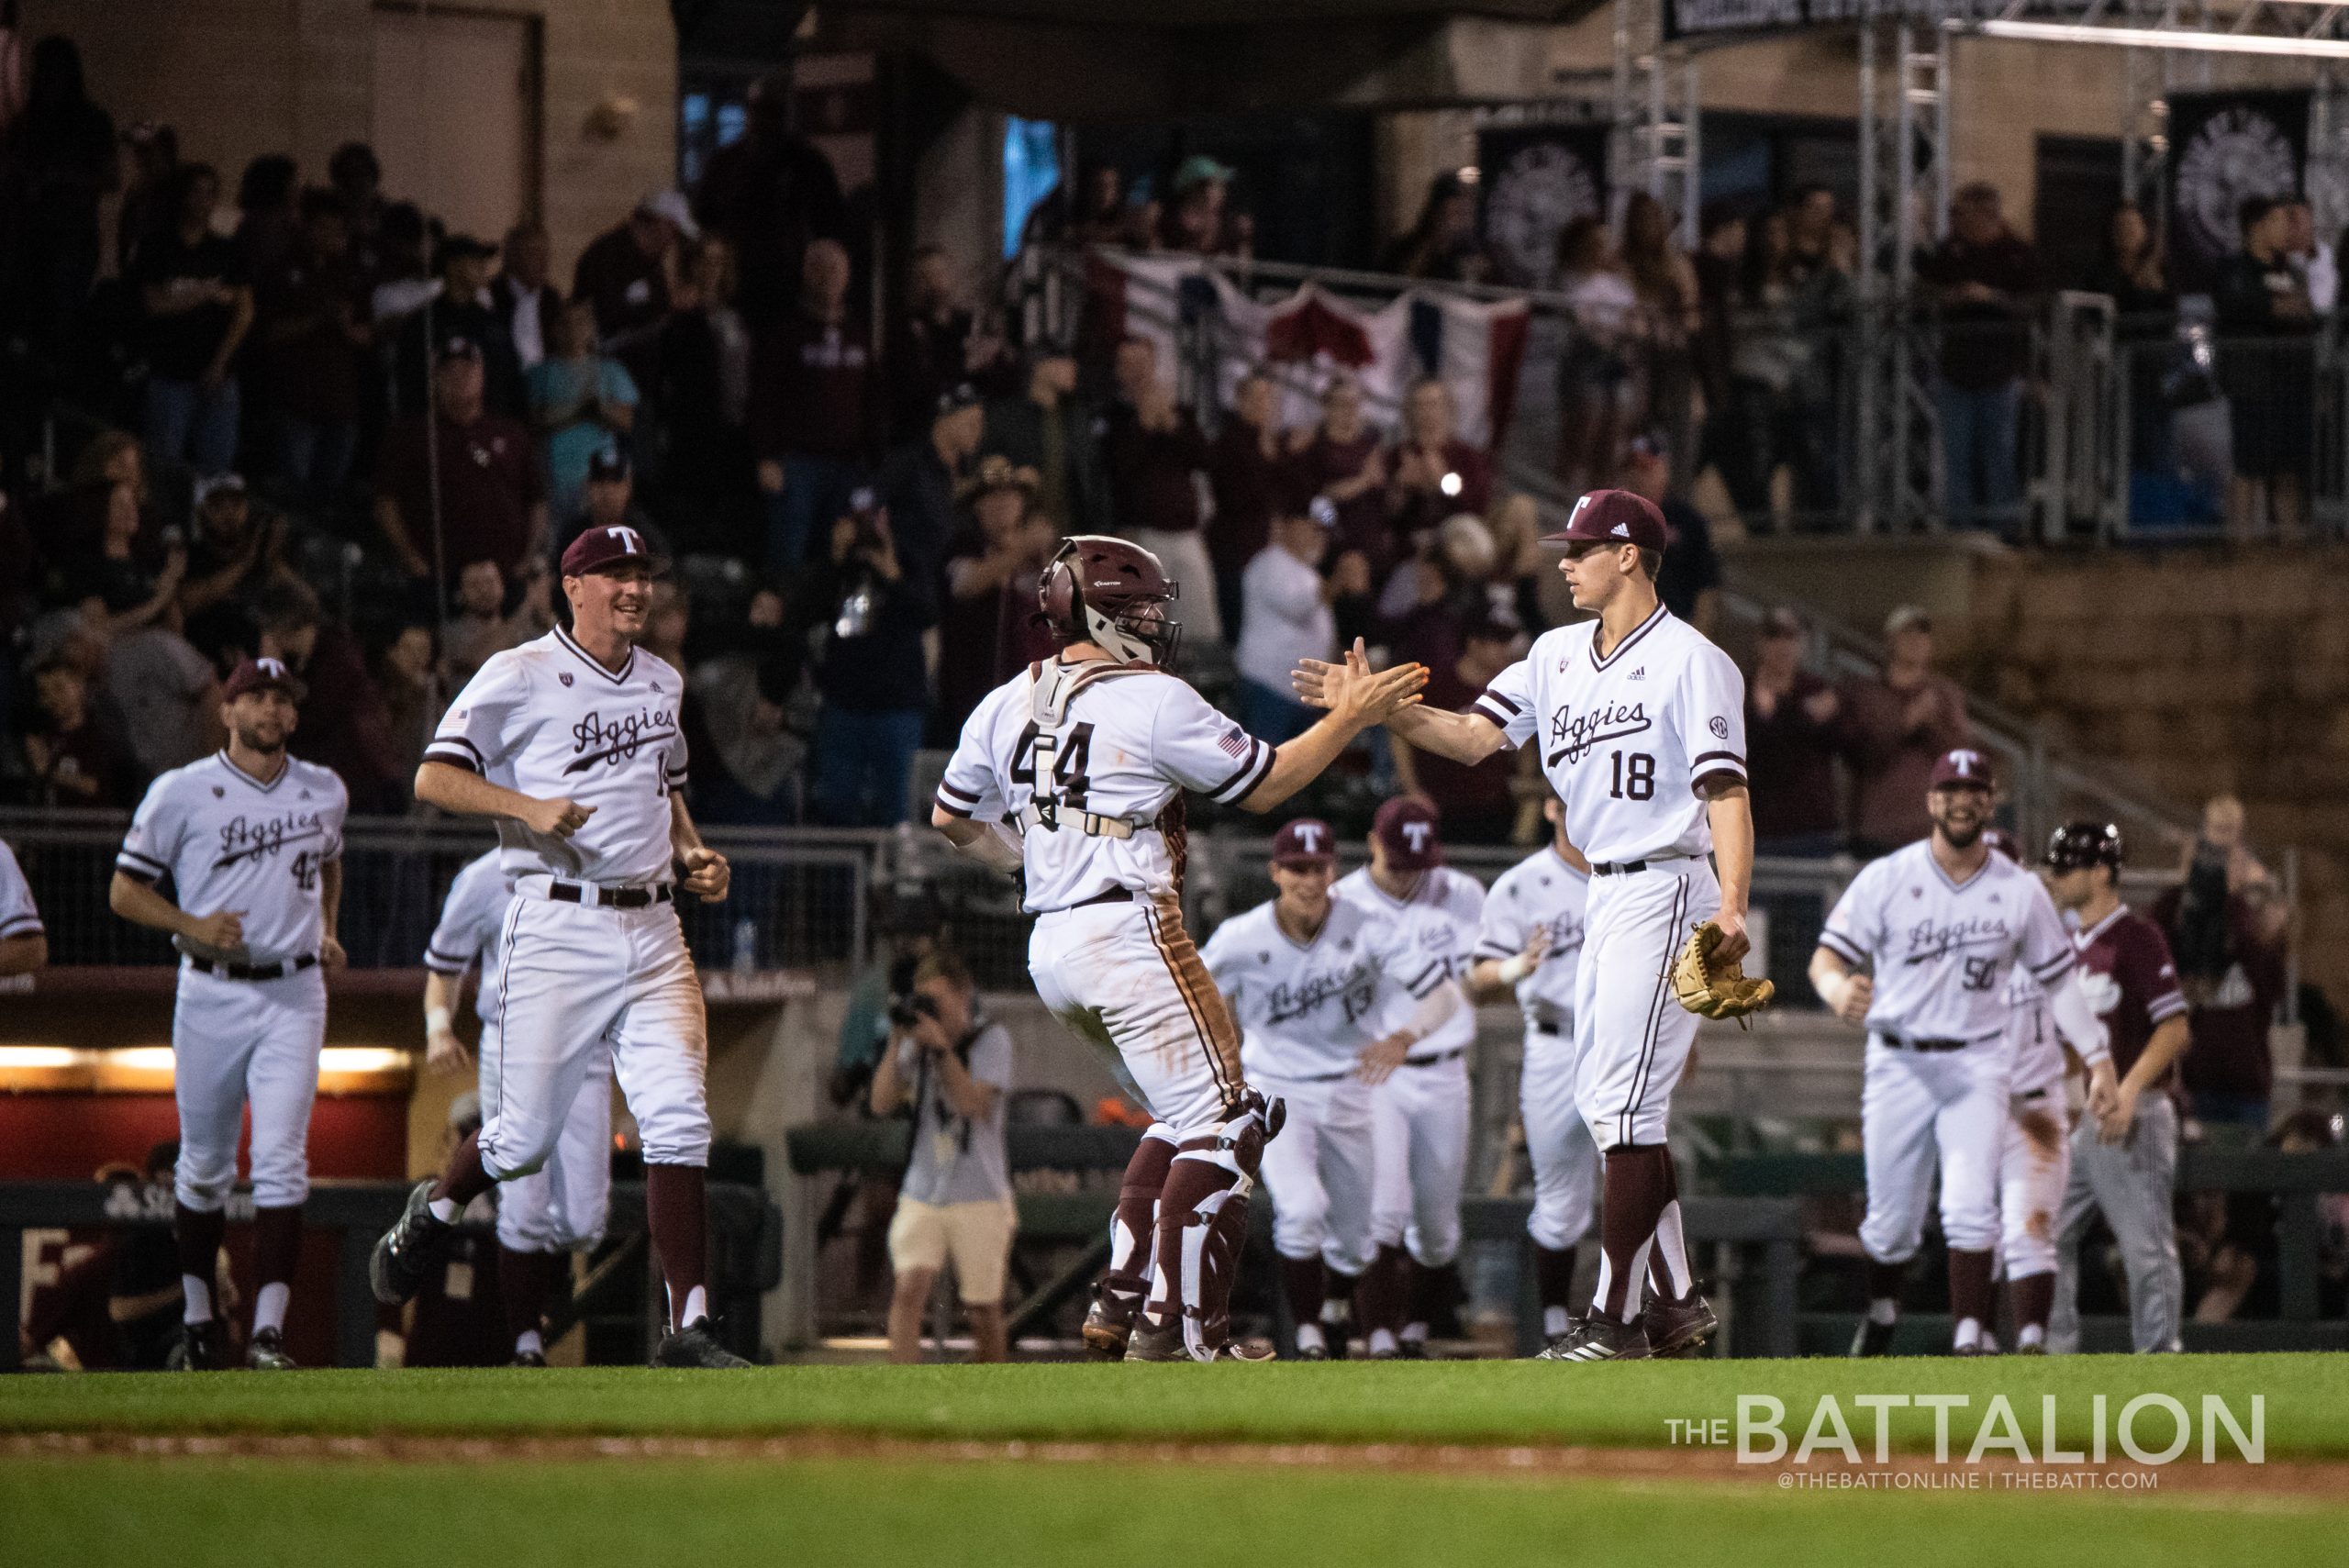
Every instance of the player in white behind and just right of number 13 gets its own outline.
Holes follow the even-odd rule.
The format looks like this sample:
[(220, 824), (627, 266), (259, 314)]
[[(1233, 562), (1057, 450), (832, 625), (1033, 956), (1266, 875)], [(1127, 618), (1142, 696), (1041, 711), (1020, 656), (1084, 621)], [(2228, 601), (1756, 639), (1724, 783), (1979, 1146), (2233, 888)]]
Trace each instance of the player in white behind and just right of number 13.
[[(1433, 805), (1412, 796), (1379, 805), (1369, 824), (1369, 864), (1339, 878), (1337, 897), (1381, 920), (1409, 925), (1416, 953), (1440, 958), (1445, 979), (1466, 986), (1478, 920), (1485, 918), (1485, 885), (1445, 866)], [(1381, 1028), (1405, 1028), (1412, 1007), (1409, 993), (1395, 993)], [(1428, 1322), (1459, 1298), (1454, 1261), (1461, 1251), (1461, 1183), (1468, 1178), (1473, 1045), (1475, 1009), (1463, 1005), (1414, 1042), (1402, 1066), (1369, 1096), (1377, 1155), (1369, 1237), (1379, 1246), (1369, 1298), (1388, 1310), (1391, 1322), (1367, 1329), (1395, 1329), (1405, 1359), (1428, 1354)], [(1280, 1202), (1278, 1192), (1273, 1202)]]

